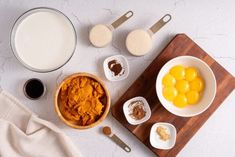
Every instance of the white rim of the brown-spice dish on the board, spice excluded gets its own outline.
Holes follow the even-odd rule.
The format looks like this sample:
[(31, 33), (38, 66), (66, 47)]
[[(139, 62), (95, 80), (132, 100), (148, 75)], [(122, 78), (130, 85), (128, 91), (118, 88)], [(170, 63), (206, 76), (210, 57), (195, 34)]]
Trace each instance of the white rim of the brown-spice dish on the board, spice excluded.
[[(144, 102), (144, 107), (146, 109), (146, 115), (145, 117), (143, 117), (142, 119), (140, 120), (135, 120), (133, 118), (131, 118), (129, 116), (129, 111), (128, 111), (128, 104), (133, 101), (133, 100), (143, 100)], [(128, 99), (124, 104), (123, 104), (123, 113), (124, 113), (124, 116), (126, 117), (126, 120), (129, 124), (131, 125), (139, 125), (139, 124), (142, 124), (146, 121), (148, 121), (151, 117), (151, 109), (150, 109), (150, 106), (149, 106), (149, 103), (148, 101), (142, 97), (142, 96), (136, 96), (136, 97), (133, 97), (131, 99)]]

